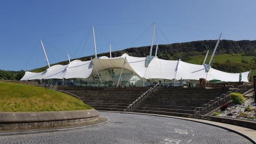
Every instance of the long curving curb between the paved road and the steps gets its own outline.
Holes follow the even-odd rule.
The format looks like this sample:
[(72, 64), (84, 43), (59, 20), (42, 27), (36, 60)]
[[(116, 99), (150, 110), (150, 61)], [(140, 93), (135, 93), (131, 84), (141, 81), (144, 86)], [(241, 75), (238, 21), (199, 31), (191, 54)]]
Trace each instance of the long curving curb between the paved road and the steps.
[[(174, 116), (167, 116), (167, 115), (157, 115), (157, 114), (146, 114), (146, 113), (133, 113), (133, 112), (126, 112), (126, 111), (106, 111), (106, 110), (98, 110), (99, 112), (109, 112), (109, 113), (126, 113), (126, 114), (137, 114), (137, 115), (149, 115), (149, 116), (159, 116), (159, 117), (169, 117), (169, 118), (177, 118), (177, 119), (182, 119), (185, 121), (191, 121), (191, 122), (197, 122), (197, 123), (202, 123), (202, 124), (207, 124), (207, 125), (212, 125), (212, 126), (216, 126), (216, 127), (220, 127), (222, 129), (237, 133), (239, 135), (242, 135), (244, 138), (250, 140), (252, 143), (256, 144), (256, 140), (252, 139), (251, 137), (249, 137), (248, 135), (245, 135), (241, 132), (229, 129), (228, 127), (224, 127), (224, 126), (220, 126), (220, 125), (215, 125), (215, 124), (211, 124), (211, 123), (206, 123), (206, 122), (199, 122), (199, 121), (195, 121), (193, 119), (186, 119), (186, 118), (182, 118), (182, 117), (174, 117)], [(207, 121), (207, 120), (205, 120)], [(219, 122), (220, 123), (220, 122)], [(225, 124), (225, 123), (224, 123)], [(241, 126), (240, 126), (241, 127)], [(246, 128), (248, 129), (248, 128)]]

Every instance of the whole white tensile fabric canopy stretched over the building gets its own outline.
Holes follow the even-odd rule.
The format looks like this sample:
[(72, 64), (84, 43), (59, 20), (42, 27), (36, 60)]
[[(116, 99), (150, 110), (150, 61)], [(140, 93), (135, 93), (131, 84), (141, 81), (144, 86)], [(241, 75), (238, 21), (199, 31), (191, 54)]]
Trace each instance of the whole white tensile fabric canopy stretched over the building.
[(55, 65), (41, 73), (31, 73), (26, 71), (21, 81), (32, 79), (63, 79), (63, 78), (88, 78), (109, 68), (124, 68), (138, 74), (141, 78), (161, 78), (161, 79), (195, 79), (206, 78), (219, 79), (225, 82), (238, 82), (239, 77), (243, 82), (248, 81), (250, 71), (244, 73), (226, 73), (217, 69), (210, 68), (206, 70), (204, 65), (194, 65), (178, 60), (162, 60), (154, 57), (146, 67), (146, 57), (131, 57), (123, 54), (121, 57), (108, 58), (101, 57), (92, 61), (74, 60), (69, 65)]

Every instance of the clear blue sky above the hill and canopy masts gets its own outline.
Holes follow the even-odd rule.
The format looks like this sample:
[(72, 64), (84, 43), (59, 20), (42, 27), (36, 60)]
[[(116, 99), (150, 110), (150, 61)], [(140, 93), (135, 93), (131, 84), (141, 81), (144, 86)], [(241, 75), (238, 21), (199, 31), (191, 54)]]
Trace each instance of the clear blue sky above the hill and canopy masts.
[(98, 53), (204, 39), (256, 39), (256, 1), (0, 1), (0, 69), (34, 69)]

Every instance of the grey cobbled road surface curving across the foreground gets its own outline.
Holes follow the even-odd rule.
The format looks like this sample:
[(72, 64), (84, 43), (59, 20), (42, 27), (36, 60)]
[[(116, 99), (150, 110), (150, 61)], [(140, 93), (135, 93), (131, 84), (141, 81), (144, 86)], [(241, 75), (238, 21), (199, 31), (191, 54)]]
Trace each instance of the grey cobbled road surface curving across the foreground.
[(252, 143), (219, 127), (182, 119), (101, 112), (109, 123), (84, 129), (0, 136), (0, 143)]

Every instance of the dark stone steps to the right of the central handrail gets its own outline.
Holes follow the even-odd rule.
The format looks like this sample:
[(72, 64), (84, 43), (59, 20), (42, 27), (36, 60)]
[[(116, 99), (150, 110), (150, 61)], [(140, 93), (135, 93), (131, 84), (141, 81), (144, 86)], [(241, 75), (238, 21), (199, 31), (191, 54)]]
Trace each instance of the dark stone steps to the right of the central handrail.
[[(172, 115), (182, 117), (193, 117), (194, 109), (201, 107), (204, 103), (219, 97), (227, 90), (222, 89), (200, 89), (200, 88), (177, 88), (159, 87), (159, 89), (145, 99), (139, 105), (133, 106), (133, 112)], [(225, 102), (212, 106), (202, 114), (221, 106)]]

